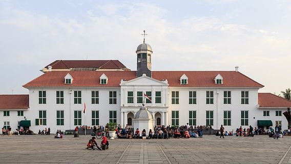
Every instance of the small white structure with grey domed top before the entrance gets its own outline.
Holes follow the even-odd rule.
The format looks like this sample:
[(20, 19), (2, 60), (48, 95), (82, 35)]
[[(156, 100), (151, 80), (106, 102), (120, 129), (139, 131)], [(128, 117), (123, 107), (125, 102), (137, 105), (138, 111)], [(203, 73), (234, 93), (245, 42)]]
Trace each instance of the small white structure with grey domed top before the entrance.
[(149, 133), (150, 129), (153, 130), (155, 119), (153, 119), (154, 117), (148, 108), (144, 107), (144, 104), (142, 104), (142, 107), (139, 109), (139, 111), (136, 112), (133, 118), (134, 130), (138, 128), (140, 134), (143, 129), (146, 130), (147, 134)]

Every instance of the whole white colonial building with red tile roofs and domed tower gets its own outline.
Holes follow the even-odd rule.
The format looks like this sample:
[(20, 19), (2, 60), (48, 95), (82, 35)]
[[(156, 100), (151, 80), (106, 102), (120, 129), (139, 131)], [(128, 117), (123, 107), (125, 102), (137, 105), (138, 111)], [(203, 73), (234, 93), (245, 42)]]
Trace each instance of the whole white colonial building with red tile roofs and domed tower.
[[(224, 125), (229, 131), (250, 125), (266, 129), (277, 123), (287, 128), (283, 112), (291, 101), (258, 94), (264, 86), (240, 73), (238, 67), (234, 71), (152, 71), (151, 46), (139, 45), (136, 54), (137, 71), (118, 60), (56, 60), (46, 66), (43, 75), (24, 85), (29, 90), (29, 108), (19, 110), (26, 110), (30, 129), (50, 127), (54, 132), (110, 121), (133, 126), (143, 101), (154, 125), (189, 123), (214, 129)], [(13, 129), (22, 120), (16, 114), (0, 119)]]

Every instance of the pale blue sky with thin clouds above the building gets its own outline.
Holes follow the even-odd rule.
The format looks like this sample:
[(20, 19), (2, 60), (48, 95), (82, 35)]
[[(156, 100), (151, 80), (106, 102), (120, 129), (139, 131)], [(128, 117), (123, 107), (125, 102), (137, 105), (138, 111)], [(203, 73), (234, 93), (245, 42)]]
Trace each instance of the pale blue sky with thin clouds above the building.
[(291, 1), (0, 0), (0, 94), (56, 59), (118, 59), (136, 70), (135, 50), (153, 49), (152, 70), (235, 70), (291, 88)]

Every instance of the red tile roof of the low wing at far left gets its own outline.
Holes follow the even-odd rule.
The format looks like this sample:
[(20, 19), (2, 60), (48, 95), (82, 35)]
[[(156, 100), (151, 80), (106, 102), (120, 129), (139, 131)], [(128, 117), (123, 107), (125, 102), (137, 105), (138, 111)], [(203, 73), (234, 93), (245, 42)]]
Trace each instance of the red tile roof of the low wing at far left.
[(0, 95), (0, 110), (29, 109), (28, 94)]

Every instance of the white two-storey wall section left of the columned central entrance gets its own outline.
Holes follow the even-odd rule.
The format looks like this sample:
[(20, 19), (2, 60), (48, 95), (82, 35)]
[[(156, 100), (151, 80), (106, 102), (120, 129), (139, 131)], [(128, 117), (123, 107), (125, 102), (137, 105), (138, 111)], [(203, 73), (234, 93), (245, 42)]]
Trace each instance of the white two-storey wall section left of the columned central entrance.
[[(38, 104), (38, 91), (46, 91), (46, 104)], [(56, 104), (56, 91), (64, 91), (64, 104)], [(70, 92), (71, 91), (71, 92)], [(81, 91), (81, 104), (74, 104), (74, 91)], [(91, 103), (92, 91), (99, 91), (99, 104)], [(109, 91), (116, 91), (116, 104), (109, 104)], [(81, 125), (91, 126), (91, 111), (99, 111), (99, 124), (106, 125), (109, 122), (109, 111), (116, 111), (117, 124), (120, 120), (120, 89), (119, 88), (35, 88), (29, 89), (30, 110), (26, 117), (31, 120), (31, 130), (37, 132), (39, 129), (51, 128), (55, 133), (57, 129), (62, 131), (74, 129), (74, 111), (81, 111)], [(86, 114), (84, 111), (86, 104)], [(47, 125), (36, 126), (35, 119), (38, 111), (46, 110)], [(64, 126), (56, 125), (56, 111), (64, 110)]]

